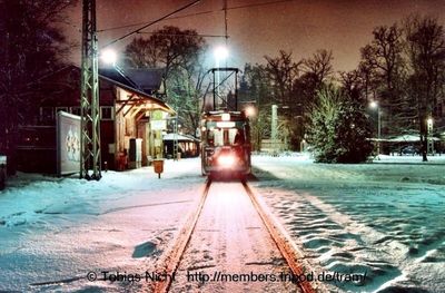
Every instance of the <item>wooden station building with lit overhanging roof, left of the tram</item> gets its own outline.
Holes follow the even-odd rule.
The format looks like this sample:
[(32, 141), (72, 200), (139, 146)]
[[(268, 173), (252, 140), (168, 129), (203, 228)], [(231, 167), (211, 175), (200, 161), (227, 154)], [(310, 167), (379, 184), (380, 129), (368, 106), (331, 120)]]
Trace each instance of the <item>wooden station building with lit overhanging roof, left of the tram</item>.
[[(68, 66), (46, 76), (32, 91), (38, 102), (29, 125), (20, 127), (18, 168), (56, 173), (56, 117), (58, 111), (80, 115), (80, 68)], [(155, 127), (154, 120), (164, 120), (175, 111), (162, 97), (162, 70), (99, 70), (102, 168), (135, 168), (146, 165), (148, 157), (164, 156), (159, 125), (165, 123)]]

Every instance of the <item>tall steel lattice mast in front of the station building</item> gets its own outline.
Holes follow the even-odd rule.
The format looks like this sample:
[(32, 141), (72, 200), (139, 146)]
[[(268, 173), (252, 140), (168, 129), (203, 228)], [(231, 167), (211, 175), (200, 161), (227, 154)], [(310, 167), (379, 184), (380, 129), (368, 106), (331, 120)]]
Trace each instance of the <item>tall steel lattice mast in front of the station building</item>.
[[(80, 178), (96, 180), (99, 180), (101, 177), (98, 55), (96, 0), (83, 0)], [(90, 168), (92, 168), (92, 174), (89, 172)]]

